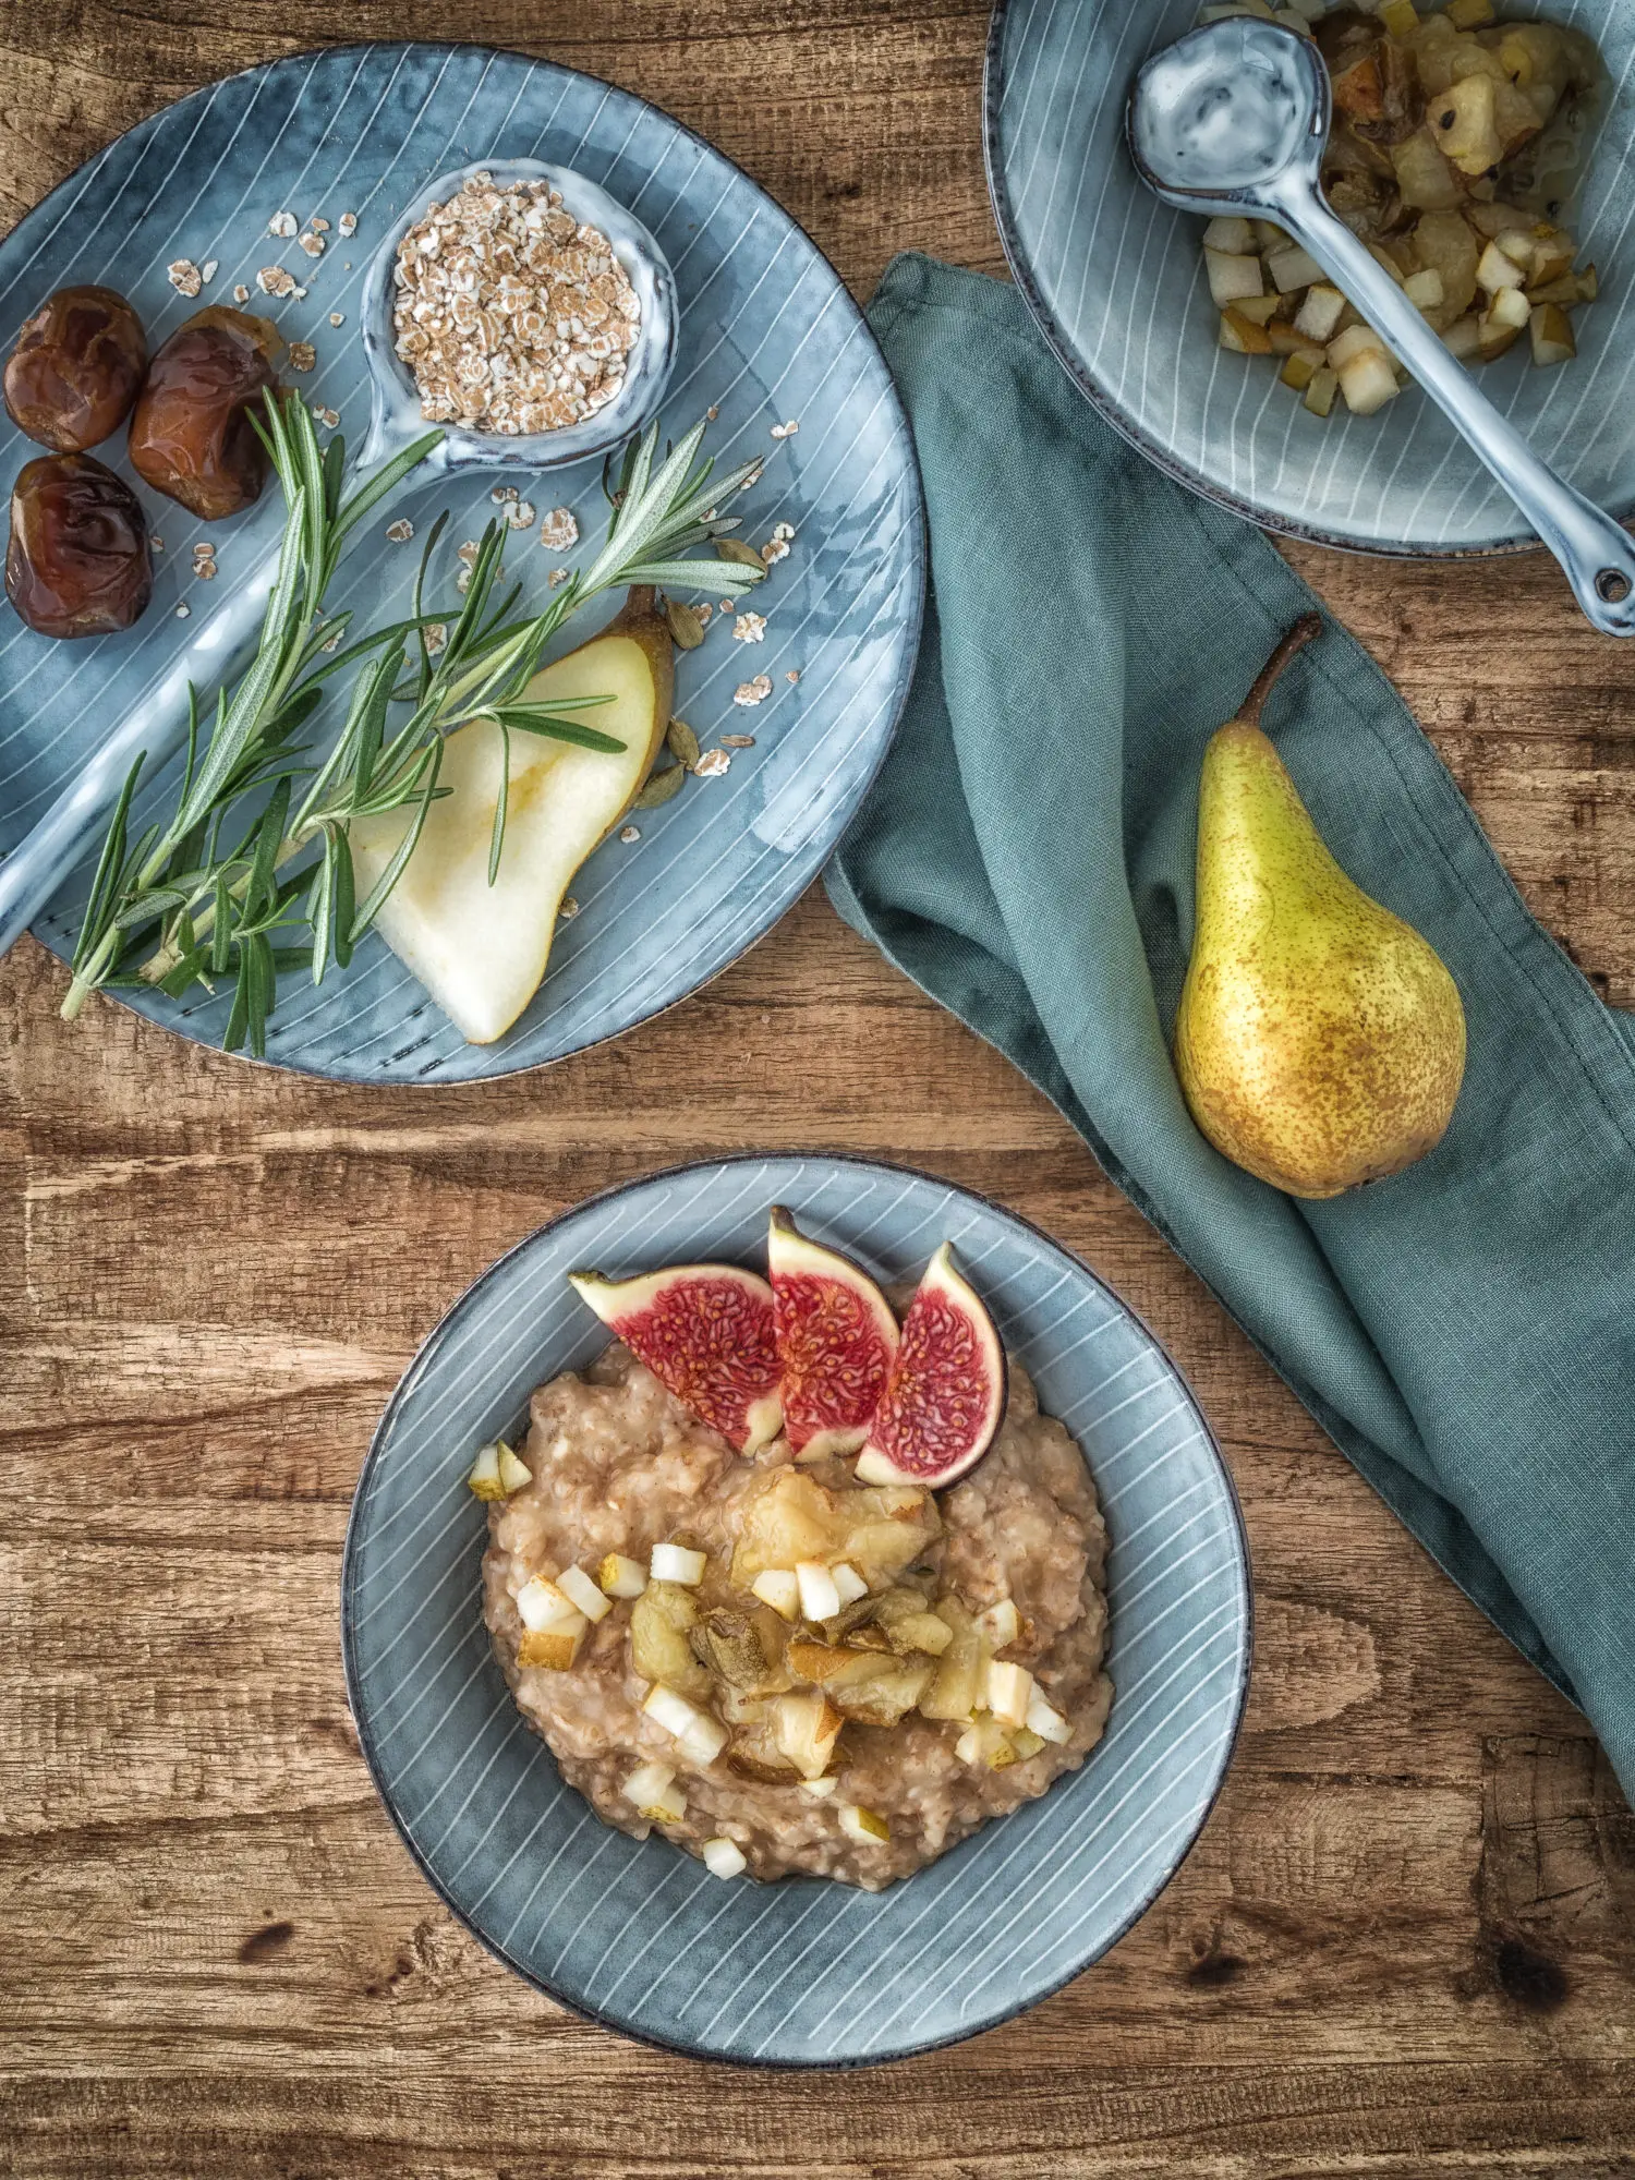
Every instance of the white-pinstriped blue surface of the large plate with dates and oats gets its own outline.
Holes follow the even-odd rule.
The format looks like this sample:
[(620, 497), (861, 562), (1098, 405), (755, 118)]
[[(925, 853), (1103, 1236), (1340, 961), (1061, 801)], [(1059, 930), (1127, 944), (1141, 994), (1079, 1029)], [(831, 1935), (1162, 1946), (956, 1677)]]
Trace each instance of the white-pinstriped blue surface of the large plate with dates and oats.
[[(310, 105), (323, 100), (320, 118), (303, 131), (294, 161), (281, 166), (288, 155), (266, 120), (277, 100), (288, 113), (296, 92)], [(211, 129), (220, 129), (214, 153), (220, 172), (187, 172), (166, 183), (161, 177), (174, 172), (187, 133), (205, 131), (201, 144), (207, 144)], [(617, 174), (623, 187), (615, 183), (615, 194), (641, 205), (682, 292), (682, 355), (667, 416), (680, 416), (676, 403), (719, 405), (717, 460), (728, 462), (735, 447), (772, 453), (767, 425), (798, 414), (802, 438), (778, 449), (776, 471), (746, 508), (754, 523), (770, 525), (772, 512), (791, 519), (800, 545), (774, 578), (770, 641), (754, 661), (717, 639), (715, 652), (685, 667), (682, 695), (698, 730), (708, 739), (713, 724), (759, 728), (759, 752), (739, 756), (730, 778), (689, 796), (685, 809), (654, 813), (643, 824), (639, 857), (619, 852), (591, 865), (586, 892), (597, 898), (565, 929), (552, 985), (512, 1040), (484, 1051), (464, 1046), (377, 942), (366, 944), (351, 974), (331, 977), (320, 990), (303, 992), (290, 981), (268, 1055), (366, 1081), (451, 1081), (532, 1066), (617, 1033), (724, 968), (809, 883), (861, 798), (894, 722), (918, 623), (918, 480), (879, 353), (844, 290), (794, 222), (719, 155), (608, 85), (473, 48), (336, 50), (277, 63), (246, 83), (216, 87), (196, 107), (159, 118), (94, 161), (72, 196), (76, 233), (89, 233), (92, 249), (105, 255), (116, 249), (129, 277), (131, 240), (118, 218), (107, 222), (102, 198), (129, 205), (142, 190), (155, 238), (164, 229), (164, 253), (153, 255), (146, 288), (131, 286), (140, 288), (144, 310), (150, 294), (174, 310), (164, 262), (179, 244), (194, 257), (218, 257), (218, 279), (231, 279), (233, 220), (216, 209), (218, 198), (229, 205), (238, 196), (262, 216), (270, 207), (259, 196), (270, 187), (279, 201), (305, 190), (314, 203), (364, 209), (373, 198), (390, 209), (412, 196), (419, 179), (447, 168), (456, 146), (462, 157), (549, 153), (591, 179)], [(211, 211), (209, 249), (203, 242), (194, 249), (192, 233), (174, 231), (174, 211), (190, 198)], [(61, 235), (52, 242), (52, 233), (65, 209), (41, 207), (17, 229), (0, 249), (0, 281), (26, 283), (35, 253), (59, 249)], [(249, 251), (262, 246), (251, 242)], [(360, 264), (344, 277), (351, 288), (342, 288), (331, 270), (336, 255), (331, 249), (316, 268), (325, 286), (314, 286), (314, 296), (320, 294), (325, 310), (347, 296), (355, 305), (362, 279)], [(717, 301), (728, 294), (730, 305)], [(347, 318), (355, 323), (355, 307)], [(331, 401), (351, 421), (360, 368), (349, 336), (320, 338), (318, 351), (320, 371), (303, 392)], [(580, 497), (584, 514), (593, 495), (586, 473), (565, 497)], [(482, 506), (484, 488), (473, 486), (471, 497)], [(168, 569), (185, 562), (194, 534), (181, 510), (170, 512), (177, 521), (166, 517), (164, 528), (177, 549), (166, 556), (161, 589)], [(249, 545), (251, 530), (238, 528), (233, 558)], [(222, 567), (231, 569), (227, 552)], [(336, 584), (334, 608), (368, 600), (392, 610), (408, 580), (405, 556), (362, 543)], [(85, 647), (78, 658), (61, 661), (28, 656), (35, 643), (22, 637), (20, 671), (0, 691), (0, 748), (13, 735), (26, 752), (9, 796), (0, 772), (0, 846), (17, 837), (24, 811), (37, 811), (57, 791), (63, 763), (85, 746), (109, 702), (102, 678), (87, 674)], [(120, 654), (118, 689), (140, 689), (174, 643), (177, 632), (155, 608)], [(802, 669), (798, 693), (783, 687), (785, 658)], [(730, 704), (730, 689), (756, 667), (774, 671), (780, 702), (761, 719), (746, 719)], [(70, 671), (81, 676), (72, 685)], [(24, 685), (24, 674), (35, 678)], [(693, 678), (700, 687), (689, 689)], [(144, 783), (137, 822), (142, 807), (164, 791), (161, 774)], [(778, 807), (804, 798), (811, 815), (783, 835), (761, 837), (756, 822), (770, 798), (783, 798)], [(691, 927), (685, 950), (667, 942), (682, 920)], [(63, 946), (74, 924), (76, 898), (68, 892), (41, 935)], [(177, 1009), (155, 1007), (146, 994), (135, 994), (135, 1003), (177, 1020)], [(207, 1040), (225, 1020), (222, 1005), (209, 998), (190, 1001), (179, 1014), (187, 1033)]]

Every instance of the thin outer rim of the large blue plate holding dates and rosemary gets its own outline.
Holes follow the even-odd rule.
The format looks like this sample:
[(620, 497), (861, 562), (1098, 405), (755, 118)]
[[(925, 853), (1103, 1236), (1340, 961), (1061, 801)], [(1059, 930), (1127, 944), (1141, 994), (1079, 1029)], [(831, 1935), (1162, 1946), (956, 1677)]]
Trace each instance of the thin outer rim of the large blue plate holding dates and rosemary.
[[(898, 728), (903, 724), (903, 713), (907, 708), (909, 693), (913, 689), (913, 676), (916, 676), (916, 669), (920, 665), (920, 650), (922, 650), (922, 643), (924, 643), (924, 617), (927, 617), (927, 597), (929, 597), (929, 558), (931, 558), (931, 554), (929, 554), (929, 538), (927, 538), (924, 477), (920, 475), (920, 449), (918, 449), (916, 438), (913, 438), (913, 425), (909, 423), (909, 412), (907, 412), (905, 401), (903, 401), (903, 390), (896, 384), (892, 366), (885, 362), (885, 351), (881, 349), (881, 342), (879, 342), (879, 338), (874, 334), (874, 327), (868, 323), (865, 307), (857, 301), (857, 296), (852, 294), (852, 290), (848, 288), (848, 283), (841, 279), (839, 268), (835, 266), (835, 262), (828, 255), (828, 251), (824, 251), (813, 240), (813, 235), (807, 229), (807, 225), (802, 220), (798, 220), (796, 214), (789, 211), (787, 205), (783, 205), (772, 194), (772, 190), (767, 190), (763, 183), (759, 183), (754, 179), (754, 174), (750, 174), (748, 168), (743, 168), (730, 153), (722, 150), (719, 144), (713, 144), (698, 129), (689, 126), (685, 120), (678, 120), (667, 107), (661, 107), (658, 100), (645, 98), (641, 92), (632, 92), (623, 83), (615, 83), (608, 76), (597, 76), (589, 68), (571, 68), (567, 61), (554, 61), (554, 59), (549, 59), (545, 55), (523, 52), (517, 46), (488, 44), (484, 39), (471, 39), (471, 37), (379, 37), (379, 39), (377, 37), (353, 37), (353, 39), (342, 39), (338, 44), (303, 44), (303, 46), (290, 48), (288, 52), (277, 52), (277, 55), (272, 55), (266, 61), (253, 61), (249, 68), (229, 70), (225, 76), (211, 76), (207, 83), (196, 83), (190, 92), (183, 92), (181, 98), (170, 98), (164, 105), (155, 107), (153, 113), (144, 113), (140, 120), (131, 122), (129, 129), (120, 129), (116, 135), (111, 135), (107, 140), (107, 144), (98, 144), (98, 148), (87, 159), (81, 159), (78, 166), (74, 166), (68, 174), (63, 174), (61, 181), (52, 183), (52, 187), (46, 190), (46, 194), (37, 203), (28, 205), (28, 209), (17, 218), (17, 222), (4, 235), (0, 235), (0, 253), (4, 253), (4, 249), (11, 244), (11, 240), (13, 240), (13, 235), (17, 233), (20, 227), (24, 227), (37, 214), (46, 211), (48, 205), (52, 205), (59, 196), (63, 196), (63, 192), (74, 181), (78, 181), (83, 177), (83, 172), (85, 172), (87, 166), (92, 166), (98, 159), (107, 157), (107, 153), (111, 153), (116, 144), (122, 144), (126, 137), (133, 137), (133, 135), (137, 135), (144, 129), (155, 129), (164, 116), (174, 113), (181, 107), (185, 107), (185, 105), (190, 105), (190, 102), (194, 102), (198, 98), (207, 98), (207, 96), (220, 92), (222, 85), (242, 83), (242, 81), (249, 81), (251, 76), (268, 76), (268, 74), (272, 74), (279, 68), (294, 68), (299, 61), (312, 61), (312, 59), (329, 61), (329, 59), (336, 59), (340, 55), (392, 55), (392, 52), (395, 55), (405, 55), (405, 52), (434, 52), (434, 55), (480, 52), (480, 55), (499, 55), (499, 57), (510, 59), (510, 61), (521, 61), (530, 70), (547, 70), (547, 72), (552, 72), (556, 76), (578, 76), (582, 83), (593, 83), (593, 85), (597, 85), (604, 92), (613, 92), (619, 98), (630, 98), (637, 107), (643, 107), (645, 111), (656, 113), (667, 126), (676, 129), (678, 135), (685, 137), (689, 144), (698, 146), (700, 150), (708, 153), (711, 157), (715, 157), (724, 166), (728, 166), (739, 177), (739, 181), (748, 183), (748, 187), (754, 190), (756, 196), (765, 198), (767, 205), (772, 205), (772, 209), (783, 220), (789, 222), (789, 227), (811, 249), (813, 257), (818, 257), (818, 262), (828, 268), (828, 272), (831, 272), (831, 277), (835, 281), (835, 288), (839, 290), (839, 307), (841, 307), (844, 323), (848, 323), (852, 331), (861, 331), (863, 340), (874, 351), (874, 358), (876, 358), (876, 362), (881, 366), (881, 373), (885, 377), (885, 403), (887, 403), (887, 412), (889, 412), (889, 416), (896, 423), (894, 436), (896, 436), (898, 445), (905, 451), (905, 484), (907, 484), (907, 491), (909, 491), (909, 508), (907, 508), (907, 519), (905, 519), (905, 534), (911, 541), (909, 543), (909, 567), (907, 567), (909, 586), (907, 586), (907, 597), (905, 597), (905, 606), (907, 606), (907, 610), (905, 610), (905, 637), (907, 637), (907, 641), (905, 641), (905, 652), (903, 652), (903, 669), (898, 674), (898, 689), (896, 689), (896, 695), (894, 695), (894, 702), (892, 702), (892, 708), (889, 708), (889, 719), (885, 724), (885, 732), (881, 737), (881, 746), (879, 746), (879, 752), (874, 756), (874, 763), (868, 767), (868, 774), (863, 776), (861, 785), (857, 787), (855, 798), (850, 800), (850, 807), (846, 811), (846, 818), (844, 818), (839, 831), (835, 833), (835, 837), (828, 841), (828, 846), (826, 846), (826, 850), (822, 855), (822, 861), (809, 872), (809, 876), (807, 876), (807, 881), (802, 885), (802, 892), (804, 892), (813, 883), (813, 879), (824, 870), (824, 865), (828, 863), (828, 859), (835, 855), (835, 850), (839, 848), (839, 841), (841, 841), (844, 833), (855, 822), (855, 818), (863, 809), (863, 802), (868, 800), (870, 791), (874, 789), (874, 783), (881, 776), (885, 759), (892, 752), (892, 743), (896, 741), (896, 732), (898, 732)], [(680, 310), (678, 310), (676, 316), (678, 316), (678, 325), (680, 325)], [(0, 774), (0, 789), (2, 787), (4, 787), (4, 774)], [(89, 857), (85, 857), (83, 861), (89, 861)], [(76, 868), (83, 868), (83, 863), (76, 865)], [(68, 876), (72, 876), (72, 872), (65, 874), (65, 879)], [(798, 900), (798, 898), (800, 898), (800, 894), (794, 896), (794, 900)], [(320, 1066), (314, 1066), (312, 1062), (305, 1062), (305, 1059), (272, 1059), (272, 1057), (266, 1057), (266, 1055), (257, 1057), (255, 1053), (249, 1053), (249, 1051), (229, 1053), (222, 1044), (216, 1044), (209, 1038), (194, 1036), (181, 1020), (159, 1020), (157, 1016), (144, 1014), (142, 1007), (135, 1007), (124, 996), (124, 992), (120, 992), (118, 988), (105, 985), (98, 996), (105, 998), (105, 1001), (111, 1001), (116, 1007), (120, 1007), (122, 1014), (129, 1014), (133, 1020), (144, 1022), (148, 1029), (157, 1029), (157, 1031), (161, 1031), (166, 1036), (179, 1038), (183, 1044), (192, 1044), (194, 1049), (198, 1049), (203, 1053), (211, 1053), (216, 1059), (244, 1062), (251, 1068), (266, 1068), (272, 1075), (296, 1075), (296, 1077), (303, 1077), (305, 1081), (323, 1081), (323, 1083), (334, 1083), (340, 1090), (362, 1090), (362, 1092), (382, 1092), (382, 1090), (386, 1090), (386, 1092), (397, 1092), (397, 1090), (412, 1090), (412, 1092), (482, 1090), (486, 1083), (517, 1081), (523, 1075), (543, 1075), (547, 1068), (565, 1066), (569, 1059), (578, 1059), (582, 1053), (600, 1051), (604, 1044), (613, 1044), (619, 1038), (626, 1038), (626, 1036), (630, 1036), (637, 1029), (645, 1029), (647, 1022), (656, 1022), (661, 1016), (669, 1014), (674, 1007), (680, 1007), (689, 998), (695, 998), (700, 992), (708, 990), (708, 985), (713, 985), (717, 977), (724, 977), (754, 946), (759, 946), (761, 940), (770, 937), (778, 929), (778, 924), (785, 920), (785, 916), (789, 913), (789, 909), (794, 907), (794, 900), (789, 900), (789, 905), (785, 909), (780, 909), (759, 931), (752, 931), (750, 937), (746, 937), (743, 944), (732, 955), (728, 955), (706, 977), (700, 977), (698, 983), (691, 983), (685, 992), (676, 992), (674, 998), (658, 1001), (656, 1005), (647, 1007), (643, 1014), (637, 1014), (632, 1020), (623, 1022), (619, 1029), (608, 1029), (600, 1038), (589, 1038), (584, 1044), (576, 1044), (571, 1051), (554, 1053), (554, 1055), (549, 1055), (545, 1059), (528, 1059), (528, 1062), (521, 1062), (517, 1066), (493, 1068), (493, 1070), (482, 1073), (482, 1075), (458, 1077), (458, 1079), (451, 1079), (451, 1081), (427, 1081), (423, 1077), (397, 1077), (397, 1075), (382, 1075), (382, 1077), (375, 1077), (375, 1079), (358, 1079), (358, 1077), (351, 1077), (351, 1075), (329, 1073), (329, 1070), (325, 1070)], [(48, 916), (48, 913), (50, 913), (50, 905), (46, 907), (46, 911), (41, 913), (41, 918), (37, 922), (44, 922), (44, 916)], [(35, 942), (35, 946), (39, 946), (46, 955), (50, 955), (52, 961), (57, 961), (61, 966), (68, 964), (68, 957), (61, 955), (57, 950), (57, 946), (52, 946), (52, 942), (41, 935), (41, 931), (37, 929), (37, 924), (28, 927), (28, 937)], [(436, 1001), (432, 1001), (429, 992), (427, 992), (427, 1003), (436, 1005)]]

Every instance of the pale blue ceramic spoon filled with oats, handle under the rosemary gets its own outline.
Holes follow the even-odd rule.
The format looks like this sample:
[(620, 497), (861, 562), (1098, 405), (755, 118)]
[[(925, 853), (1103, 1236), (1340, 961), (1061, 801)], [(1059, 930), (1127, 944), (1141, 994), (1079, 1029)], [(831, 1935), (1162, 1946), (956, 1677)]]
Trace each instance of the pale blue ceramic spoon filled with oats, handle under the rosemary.
[[(541, 473), (608, 453), (643, 425), (663, 401), (669, 371), (676, 362), (676, 283), (658, 244), (647, 229), (617, 205), (606, 190), (565, 168), (538, 159), (484, 159), (477, 166), (440, 174), (414, 194), (408, 211), (375, 251), (364, 275), (360, 327), (368, 364), (371, 421), (362, 451), (347, 471), (342, 493), (362, 473), (401, 453), (427, 429), (414, 377), (392, 349), (392, 266), (401, 235), (425, 207), (456, 194), (469, 174), (493, 174), (504, 187), (510, 181), (549, 181), (562, 192), (567, 209), (582, 222), (600, 227), (630, 275), (641, 301), (641, 329), (630, 349), (619, 395), (584, 423), (536, 436), (501, 436), (447, 429), (443, 443), (410, 471), (401, 488), (471, 475), (477, 471), (521, 469)], [(371, 514), (379, 521), (386, 501)], [(46, 815), (0, 863), (0, 955), (41, 913), (68, 874), (100, 844), (113, 804), (137, 756), (146, 754), (144, 776), (155, 772), (181, 748), (187, 730), (187, 687), (214, 702), (214, 691), (233, 676), (251, 652), (262, 628), (277, 543), (229, 593), (187, 645), (166, 665), (135, 700), (107, 741), (89, 756), (70, 787)]]

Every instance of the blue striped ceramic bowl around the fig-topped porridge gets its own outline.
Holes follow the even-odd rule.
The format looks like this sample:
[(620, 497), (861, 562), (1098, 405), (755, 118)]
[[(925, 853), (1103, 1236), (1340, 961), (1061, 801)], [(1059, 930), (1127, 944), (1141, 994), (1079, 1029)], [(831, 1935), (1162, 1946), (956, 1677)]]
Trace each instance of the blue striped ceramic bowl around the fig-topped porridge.
[[(1090, 1463), (1112, 1535), (1107, 1733), (1081, 1770), (881, 1894), (722, 1881), (628, 1840), (558, 1777), (488, 1648), (475, 1450), (606, 1332), (567, 1286), (765, 1262), (772, 1203), (876, 1277), (942, 1240)], [(429, 1336), (368, 1450), (342, 1567), (364, 1757), (425, 1877), (528, 1982), (695, 2056), (850, 2067), (955, 2043), (1055, 1990), (1171, 1879), (1225, 1775), (1249, 1676), (1249, 1570), (1210, 1430), (1147, 1328), (1025, 1221), (841, 1158), (735, 1158), (595, 1197), (519, 1243)]]

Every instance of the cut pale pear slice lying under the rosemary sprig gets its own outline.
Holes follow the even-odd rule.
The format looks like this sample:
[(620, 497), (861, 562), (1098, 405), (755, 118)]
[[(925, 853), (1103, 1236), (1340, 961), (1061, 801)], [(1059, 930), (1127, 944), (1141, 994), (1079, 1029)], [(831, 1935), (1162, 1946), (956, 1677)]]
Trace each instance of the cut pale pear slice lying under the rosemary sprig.
[[(512, 732), (506, 846), (493, 885), (488, 846), (504, 741), (488, 719), (447, 737), (438, 785), (449, 794), (427, 811), (408, 870), (379, 913), (379, 935), (471, 1044), (501, 1038), (538, 990), (562, 896), (647, 778), (674, 691), (669, 626), (650, 589), (632, 591), (600, 637), (534, 676), (530, 702), (613, 698), (582, 719), (623, 741), (623, 752)], [(353, 824), (360, 898), (386, 870), (405, 824), (401, 811)]]

